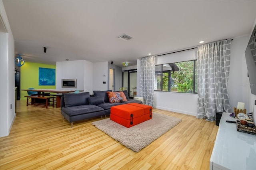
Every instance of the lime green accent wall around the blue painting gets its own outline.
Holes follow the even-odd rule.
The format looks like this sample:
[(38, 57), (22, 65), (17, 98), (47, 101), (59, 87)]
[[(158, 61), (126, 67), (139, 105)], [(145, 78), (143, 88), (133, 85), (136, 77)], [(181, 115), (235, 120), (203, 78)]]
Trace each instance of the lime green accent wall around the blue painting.
[[(39, 67), (56, 69), (56, 65), (25, 62), (20, 67), (20, 89), (56, 89), (56, 85), (39, 85)], [(26, 99), (26, 95), (27, 91), (20, 91), (21, 100)]]

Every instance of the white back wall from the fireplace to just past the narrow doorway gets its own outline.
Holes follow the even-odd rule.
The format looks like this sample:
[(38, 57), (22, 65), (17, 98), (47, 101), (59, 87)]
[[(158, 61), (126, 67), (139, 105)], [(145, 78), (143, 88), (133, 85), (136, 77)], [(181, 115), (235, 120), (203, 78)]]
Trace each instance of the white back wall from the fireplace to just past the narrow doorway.
[[(108, 62), (92, 63), (86, 60), (56, 62), (56, 89), (74, 90), (74, 88), (62, 88), (62, 79), (77, 79), (79, 90), (103, 91), (108, 89), (109, 68), (115, 70), (115, 91), (122, 85), (122, 69)], [(103, 84), (103, 81), (106, 84)]]

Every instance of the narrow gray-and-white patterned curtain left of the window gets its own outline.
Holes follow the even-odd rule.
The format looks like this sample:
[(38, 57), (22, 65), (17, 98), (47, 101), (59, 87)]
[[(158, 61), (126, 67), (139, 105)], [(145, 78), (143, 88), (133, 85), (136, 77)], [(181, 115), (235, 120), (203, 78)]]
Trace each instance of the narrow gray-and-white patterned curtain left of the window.
[(155, 56), (140, 59), (140, 96), (144, 104), (154, 107)]

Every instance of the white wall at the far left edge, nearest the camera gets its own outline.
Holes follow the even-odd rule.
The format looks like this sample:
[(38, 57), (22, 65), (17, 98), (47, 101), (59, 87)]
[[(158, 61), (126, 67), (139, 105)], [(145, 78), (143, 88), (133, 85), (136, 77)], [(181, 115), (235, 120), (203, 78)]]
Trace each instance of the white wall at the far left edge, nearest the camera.
[[(0, 137), (8, 136), (15, 114), (14, 38), (4, 4), (0, 0)], [(12, 109), (11, 106), (12, 105)]]

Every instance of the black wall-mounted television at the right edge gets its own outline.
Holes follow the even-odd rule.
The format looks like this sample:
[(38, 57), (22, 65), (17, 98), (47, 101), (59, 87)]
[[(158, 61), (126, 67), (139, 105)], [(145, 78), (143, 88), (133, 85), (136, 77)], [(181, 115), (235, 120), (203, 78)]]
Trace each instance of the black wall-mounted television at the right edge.
[(256, 95), (256, 26), (245, 51), (246, 65), (252, 94)]

